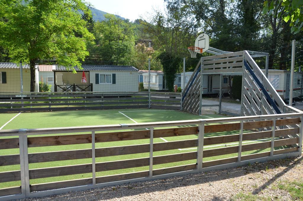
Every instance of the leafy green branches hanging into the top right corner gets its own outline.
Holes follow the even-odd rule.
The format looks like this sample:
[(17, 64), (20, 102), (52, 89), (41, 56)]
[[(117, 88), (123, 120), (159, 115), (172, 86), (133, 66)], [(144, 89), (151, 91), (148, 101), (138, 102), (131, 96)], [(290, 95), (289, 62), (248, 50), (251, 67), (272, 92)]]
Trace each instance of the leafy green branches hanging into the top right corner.
[(302, 0), (278, 0), (265, 1), (263, 13), (271, 16), (275, 12), (275, 5), (281, 5), (278, 10), (278, 17), (282, 17), (285, 22), (290, 21), (291, 32), (297, 34), (303, 29), (303, 1)]

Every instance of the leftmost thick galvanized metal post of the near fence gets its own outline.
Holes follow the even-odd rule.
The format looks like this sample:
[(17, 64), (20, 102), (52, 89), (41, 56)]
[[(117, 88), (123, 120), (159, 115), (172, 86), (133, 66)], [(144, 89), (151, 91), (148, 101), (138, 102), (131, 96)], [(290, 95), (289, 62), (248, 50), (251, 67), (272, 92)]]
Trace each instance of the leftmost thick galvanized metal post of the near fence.
[(29, 187), (29, 170), (28, 170), (28, 146), (27, 146), (27, 129), (19, 129), (19, 152), (20, 152), (20, 173), (21, 173), (21, 192), (28, 197), (30, 194)]

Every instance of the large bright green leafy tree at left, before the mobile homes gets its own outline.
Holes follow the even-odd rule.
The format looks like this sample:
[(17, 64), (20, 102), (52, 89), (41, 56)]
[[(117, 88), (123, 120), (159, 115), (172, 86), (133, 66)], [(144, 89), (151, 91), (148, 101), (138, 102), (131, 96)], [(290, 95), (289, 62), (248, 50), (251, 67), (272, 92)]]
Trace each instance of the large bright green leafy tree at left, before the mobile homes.
[(88, 11), (83, 0), (5, 0), (0, 8), (0, 45), (12, 61), (29, 63), (31, 91), (38, 61), (55, 58), (74, 72), (75, 66), (81, 68), (80, 60), (88, 55), (85, 41), (93, 39), (78, 12)]

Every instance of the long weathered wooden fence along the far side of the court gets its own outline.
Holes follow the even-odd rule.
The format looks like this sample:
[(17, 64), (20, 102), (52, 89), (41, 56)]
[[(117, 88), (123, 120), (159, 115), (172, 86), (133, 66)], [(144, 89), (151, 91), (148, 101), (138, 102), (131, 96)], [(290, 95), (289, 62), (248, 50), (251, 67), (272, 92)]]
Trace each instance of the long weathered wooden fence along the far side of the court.
[[(22, 93), (0, 95), (0, 112), (181, 107), (180, 93)], [(152, 99), (150, 99), (152, 98)]]

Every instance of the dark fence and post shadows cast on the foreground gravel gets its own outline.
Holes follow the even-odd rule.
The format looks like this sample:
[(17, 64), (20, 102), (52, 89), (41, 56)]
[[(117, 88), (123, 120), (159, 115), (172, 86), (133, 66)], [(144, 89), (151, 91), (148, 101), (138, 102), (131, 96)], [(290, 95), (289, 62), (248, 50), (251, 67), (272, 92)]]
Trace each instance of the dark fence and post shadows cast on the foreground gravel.
[[(140, 195), (142, 193), (150, 193), (165, 190), (176, 190), (177, 187), (194, 186), (197, 184), (205, 184), (212, 186), (212, 182), (224, 179), (232, 179), (244, 176), (249, 173), (270, 171), (277, 167), (287, 167), (276, 174), (273, 178), (269, 178), (268, 182), (253, 191), (257, 194), (261, 190), (267, 188), (268, 185), (275, 182), (279, 177), (290, 171), (303, 160), (301, 158), (285, 158), (265, 163), (254, 163), (252, 165), (241, 166), (232, 169), (223, 169), (217, 171), (201, 172), (196, 174), (189, 174), (183, 176), (176, 176), (166, 179), (157, 179), (146, 182), (128, 183), (119, 186), (107, 186), (103, 188), (90, 189), (86, 191), (69, 192), (60, 195), (60, 199), (64, 200), (105, 200), (105, 199), (119, 199), (124, 196)], [(41, 198), (41, 200), (52, 200), (53, 196)], [(214, 197), (212, 200), (226, 200), (225, 197)], [(39, 199), (38, 199), (39, 200)]]

